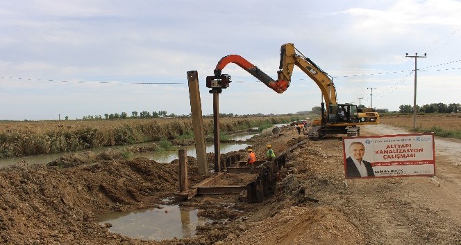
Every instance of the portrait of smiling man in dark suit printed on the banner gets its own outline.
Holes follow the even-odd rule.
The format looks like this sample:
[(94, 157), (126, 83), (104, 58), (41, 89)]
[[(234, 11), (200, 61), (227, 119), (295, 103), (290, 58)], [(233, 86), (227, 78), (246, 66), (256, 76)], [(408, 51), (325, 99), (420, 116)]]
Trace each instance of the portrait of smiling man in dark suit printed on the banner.
[(349, 145), (349, 157), (346, 158), (346, 177), (347, 178), (362, 178), (374, 177), (373, 167), (371, 163), (365, 161), (365, 146), (360, 141), (353, 141)]

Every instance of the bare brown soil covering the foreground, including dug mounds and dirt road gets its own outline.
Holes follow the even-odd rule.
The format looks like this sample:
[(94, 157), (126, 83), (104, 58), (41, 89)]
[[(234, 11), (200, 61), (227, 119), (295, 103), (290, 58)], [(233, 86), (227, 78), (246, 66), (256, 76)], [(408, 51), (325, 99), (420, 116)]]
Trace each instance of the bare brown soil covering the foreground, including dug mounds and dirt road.
[[(306, 140), (294, 127), (279, 137), (250, 140), (257, 158), (269, 143), (292, 148), (293, 170), (261, 203), (237, 195), (176, 201), (217, 221), (196, 237), (160, 242), (110, 233), (97, 215), (156, 207), (178, 189), (178, 161), (124, 160), (119, 152), (68, 154), (48, 165), (18, 163), (0, 170), (1, 244), (461, 244), (461, 145), (437, 138), (436, 177), (344, 179), (341, 136)], [(400, 134), (387, 125), (361, 135)], [(242, 158), (246, 152), (239, 152)], [(213, 155), (208, 165), (213, 169)], [(188, 158), (190, 185), (208, 176)], [(234, 181), (242, 181), (236, 177)], [(234, 183), (232, 179), (228, 183)], [(318, 200), (318, 201), (315, 201)], [(107, 225), (109, 226), (109, 225)]]

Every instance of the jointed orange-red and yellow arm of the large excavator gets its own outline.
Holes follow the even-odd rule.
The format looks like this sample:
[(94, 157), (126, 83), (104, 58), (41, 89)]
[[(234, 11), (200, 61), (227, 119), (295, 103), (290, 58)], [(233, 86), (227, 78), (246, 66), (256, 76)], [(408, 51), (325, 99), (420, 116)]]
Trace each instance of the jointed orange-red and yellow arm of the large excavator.
[[(302, 54), (296, 54), (296, 48), (293, 44), (283, 44), (280, 48), (280, 66), (277, 71), (277, 80), (272, 79), (258, 69), (257, 66), (251, 64), (240, 55), (227, 55), (219, 60), (216, 69), (215, 76), (208, 77), (208, 80), (213, 78), (220, 78), (221, 72), (229, 63), (237, 64), (242, 67), (245, 71), (258, 78), (262, 83), (266, 84), (267, 87), (273, 89), (277, 93), (285, 92), (290, 87), (294, 65), (298, 66), (304, 73), (306, 73), (317, 86), (320, 88), (326, 105), (330, 103), (337, 104), (336, 89), (333, 81), (329, 75), (322, 71), (319, 66), (312, 62), (309, 58), (304, 57)], [(299, 51), (298, 51), (299, 52)], [(299, 52), (301, 53), (301, 52)]]

